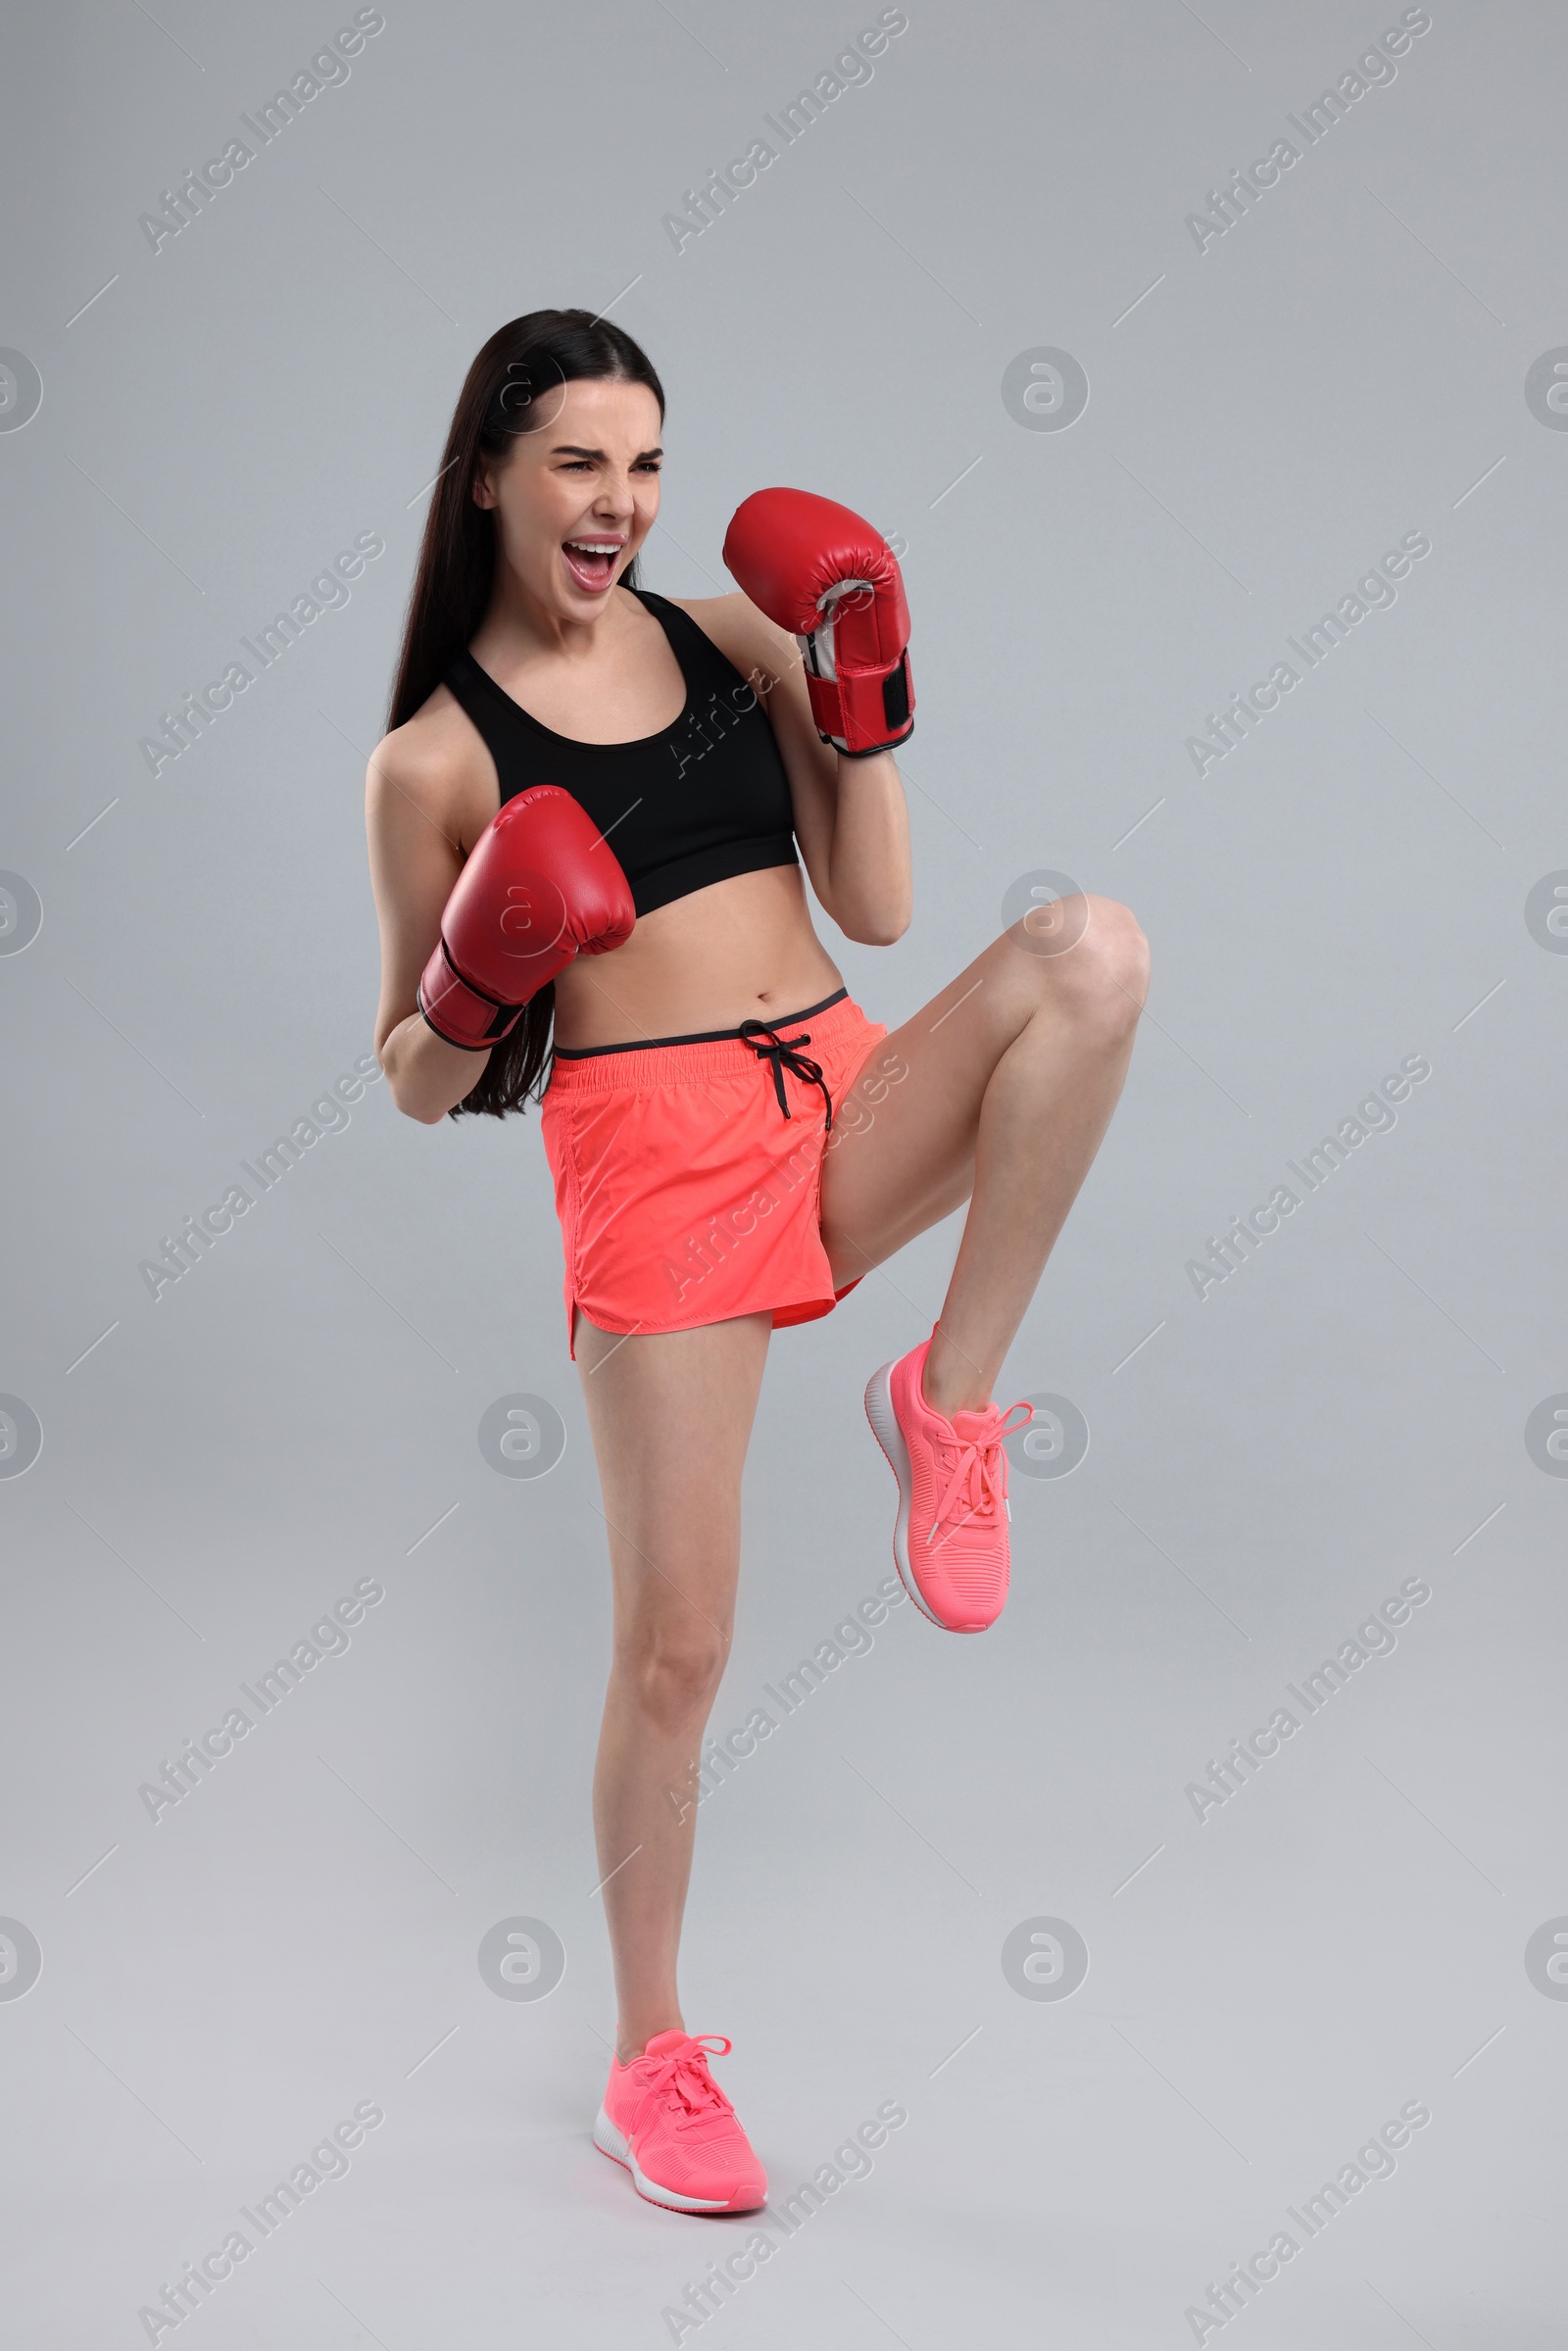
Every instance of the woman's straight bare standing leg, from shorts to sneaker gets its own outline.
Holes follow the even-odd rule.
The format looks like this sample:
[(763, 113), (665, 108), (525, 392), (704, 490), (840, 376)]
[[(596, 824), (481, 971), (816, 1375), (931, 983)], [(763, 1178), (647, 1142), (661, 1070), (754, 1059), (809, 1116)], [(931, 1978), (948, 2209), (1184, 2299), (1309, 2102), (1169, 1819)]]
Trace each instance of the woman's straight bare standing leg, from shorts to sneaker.
[(642, 1338), (576, 1319), (614, 1573), (592, 1813), (623, 2064), (684, 2029), (675, 1961), (698, 1749), (733, 1632), (741, 1467), (769, 1331), (769, 1314)]

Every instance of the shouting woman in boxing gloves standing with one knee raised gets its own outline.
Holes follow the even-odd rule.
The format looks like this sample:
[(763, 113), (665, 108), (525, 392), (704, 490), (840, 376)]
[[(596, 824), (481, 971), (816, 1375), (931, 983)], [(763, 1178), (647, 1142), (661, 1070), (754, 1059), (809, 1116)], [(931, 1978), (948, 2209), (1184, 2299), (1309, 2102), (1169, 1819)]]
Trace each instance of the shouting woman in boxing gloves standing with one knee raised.
[(543, 1103), (614, 1573), (595, 2142), (651, 2201), (736, 2212), (766, 2177), (708, 2071), (729, 2041), (684, 2029), (696, 1806), (670, 1791), (729, 1655), (769, 1331), (971, 1201), (938, 1324), (867, 1413), (910, 1596), (990, 1625), (1013, 1427), (992, 1382), (1121, 1091), (1147, 955), (1126, 907), (1067, 898), (891, 1034), (865, 1018), (802, 863), (846, 938), (903, 936), (898, 564), (849, 510), (762, 491), (726, 541), (752, 595), (644, 595), (661, 426), (649, 360), (585, 310), (512, 320), (473, 362), (367, 778), (376, 1053), (425, 1124)]

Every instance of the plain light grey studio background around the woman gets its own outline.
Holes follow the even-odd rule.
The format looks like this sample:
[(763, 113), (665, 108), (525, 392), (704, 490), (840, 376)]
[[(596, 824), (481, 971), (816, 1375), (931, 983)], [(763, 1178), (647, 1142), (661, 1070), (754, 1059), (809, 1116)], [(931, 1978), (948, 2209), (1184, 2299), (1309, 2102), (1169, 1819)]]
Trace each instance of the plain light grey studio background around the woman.
[[(1568, 2008), (1523, 1965), (1568, 1911), (1568, 1486), (1523, 1441), (1568, 1389), (1568, 962), (1523, 917), (1568, 865), (1568, 442), (1523, 397), (1568, 343), (1561, 12), (1434, 0), (1199, 252), (1187, 212), (1399, 9), (910, 0), (677, 254), (682, 190), (875, 14), (388, 0), (160, 254), (139, 214), (350, 9), (12, 26), (0, 343), (42, 407), (0, 435), (0, 865), (42, 929), (0, 957), (0, 1387), (45, 1432), (0, 1481), (0, 1911), (42, 1951), (0, 2001), (16, 2339), (143, 2342), (364, 2099), (386, 2123), (205, 2342), (670, 2342), (750, 2229), (588, 2142), (609, 1610), (536, 1119), (430, 1131), (371, 1086), (158, 1302), (136, 1270), (369, 1049), (362, 773), (421, 489), (498, 322), (614, 301), (670, 393), (651, 585), (729, 585), (769, 482), (907, 545), (917, 917), (891, 950), (823, 917), (851, 992), (905, 1018), (1034, 868), (1126, 898), (1157, 973), (999, 1387), (1091, 1429), (1072, 1476), (1013, 1476), (1006, 1615), (893, 1613), (703, 1806), (686, 2022), (733, 2036), (776, 2196), (910, 2118), (701, 2335), (1192, 2342), (1425, 2099), (1248, 2339), (1561, 2342)], [(1037, 346), (1088, 376), (1072, 430), (1001, 402)], [(1204, 712), (1413, 529), (1399, 602), (1199, 778)], [(386, 555), (348, 607), (148, 776), (158, 712), (357, 531)], [(1399, 1126), (1199, 1302), (1185, 1260), (1413, 1053)], [(954, 1244), (773, 1347), (715, 1730), (891, 1570), (860, 1389)], [(543, 1479), (480, 1453), (512, 1394), (562, 1415)], [(1415, 1575), (1394, 1655), (1199, 1822), (1187, 1782)], [(153, 1824), (139, 1784), (360, 1578), (348, 1653)], [(567, 1954), (536, 2003), (477, 1965), (520, 1916)], [(1088, 1947), (1067, 2001), (1001, 1972), (1032, 1918)]]

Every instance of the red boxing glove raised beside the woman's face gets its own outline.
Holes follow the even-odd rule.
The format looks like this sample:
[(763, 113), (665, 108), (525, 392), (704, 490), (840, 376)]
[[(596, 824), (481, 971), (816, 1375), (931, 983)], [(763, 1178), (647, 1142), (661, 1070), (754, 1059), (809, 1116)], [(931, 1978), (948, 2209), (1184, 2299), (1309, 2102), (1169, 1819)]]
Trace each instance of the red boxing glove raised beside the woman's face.
[(882, 531), (809, 489), (759, 489), (731, 517), (724, 562), (799, 637), (823, 743), (865, 759), (914, 734), (910, 607)]

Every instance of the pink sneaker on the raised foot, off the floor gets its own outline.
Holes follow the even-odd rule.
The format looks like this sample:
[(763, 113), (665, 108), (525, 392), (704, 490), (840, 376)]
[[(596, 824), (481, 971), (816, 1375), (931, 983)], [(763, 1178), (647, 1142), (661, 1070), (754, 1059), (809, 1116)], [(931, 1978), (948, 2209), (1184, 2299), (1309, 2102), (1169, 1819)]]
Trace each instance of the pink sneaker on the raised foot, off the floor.
[[(919, 1385), (929, 1345), (872, 1373), (865, 1418), (898, 1479), (893, 1559), (905, 1592), (943, 1632), (985, 1632), (1001, 1615), (1009, 1582), (1001, 1439), (1025, 1429), (1034, 1406), (1001, 1413), (987, 1404), (945, 1420)], [(1013, 1413), (1023, 1420), (1013, 1422)]]

